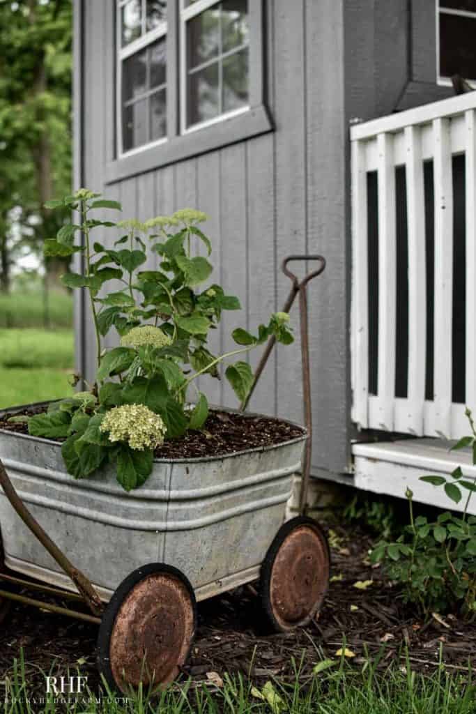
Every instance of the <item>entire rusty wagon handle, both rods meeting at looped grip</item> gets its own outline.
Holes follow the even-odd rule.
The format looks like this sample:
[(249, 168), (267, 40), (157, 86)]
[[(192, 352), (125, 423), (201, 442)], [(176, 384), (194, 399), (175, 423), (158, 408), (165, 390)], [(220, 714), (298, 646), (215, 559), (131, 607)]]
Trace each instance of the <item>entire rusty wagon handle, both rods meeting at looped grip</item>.
[[(289, 263), (294, 261), (318, 261), (320, 266), (305, 275), (301, 280), (288, 268)], [(309, 477), (310, 477), (310, 463), (313, 450), (313, 412), (311, 403), (311, 391), (310, 391), (310, 358), (309, 358), (309, 331), (308, 331), (308, 293), (307, 286), (308, 283), (317, 278), (325, 270), (325, 258), (319, 255), (292, 255), (288, 256), (283, 260), (281, 264), (281, 270), (287, 276), (293, 285), (290, 289), (288, 299), (285, 301), (283, 306), (283, 312), (289, 312), (290, 308), (293, 306), (295, 297), (299, 293), (299, 321), (300, 321), (300, 338), (301, 338), (301, 361), (303, 365), (303, 397), (304, 397), (304, 421), (305, 427), (308, 430), (308, 440), (305, 444), (304, 461), (303, 461), (303, 475), (299, 496), (299, 513), (303, 515), (306, 511), (308, 505), (308, 489), (309, 489)], [(240, 405), (240, 411), (245, 411), (248, 403), (250, 401), (253, 392), (255, 391), (255, 386), (258, 383), (263, 370), (268, 362), (273, 347), (275, 346), (276, 339), (274, 336), (270, 337), (266, 345), (263, 356), (258, 363), (258, 367), (255, 371), (255, 376), (253, 379), (253, 384), (250, 388), (248, 396), (243, 400)]]

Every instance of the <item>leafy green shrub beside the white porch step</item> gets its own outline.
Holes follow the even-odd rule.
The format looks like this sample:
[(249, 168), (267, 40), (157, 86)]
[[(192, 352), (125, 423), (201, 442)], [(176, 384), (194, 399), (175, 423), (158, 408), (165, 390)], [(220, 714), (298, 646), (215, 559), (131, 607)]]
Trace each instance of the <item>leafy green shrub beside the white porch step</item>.
[[(452, 447), (471, 448), (476, 464), (475, 423), (469, 409), (472, 436), (465, 436)], [(413, 493), (407, 488), (410, 525), (397, 540), (380, 540), (370, 553), (373, 563), (383, 563), (389, 578), (402, 585), (406, 602), (418, 605), (425, 613), (432, 610), (460, 609), (463, 614), (476, 613), (476, 516), (468, 516), (476, 483), (464, 478), (460, 466), (445, 476), (421, 476), (421, 481), (444, 488), (446, 495), (460, 503), (467, 493), (462, 516), (445, 511), (435, 521), (413, 516)]]

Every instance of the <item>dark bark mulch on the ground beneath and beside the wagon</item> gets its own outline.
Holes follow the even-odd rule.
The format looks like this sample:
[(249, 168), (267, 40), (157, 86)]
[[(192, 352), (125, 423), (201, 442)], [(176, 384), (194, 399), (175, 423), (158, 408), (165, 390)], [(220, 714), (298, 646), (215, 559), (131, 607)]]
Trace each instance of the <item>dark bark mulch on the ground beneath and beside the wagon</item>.
[[(356, 665), (382, 651), (379, 668), (392, 661), (404, 666), (406, 644), (416, 670), (432, 672), (442, 648), (449, 670), (465, 673), (473, 660), (476, 672), (476, 623), (451, 615), (426, 622), (418, 617), (402, 603), (397, 588), (383, 580), (380, 569), (368, 563), (368, 533), (355, 527), (335, 528), (330, 543), (332, 579), (315, 622), (295, 633), (263, 634), (258, 598), (250, 587), (200, 603), (198, 636), (186, 674), (198, 683), (207, 680), (208, 673), (242, 673), (259, 685), (273, 677), (293, 680), (295, 658), (298, 663), (303, 660), (305, 679), (320, 658), (335, 657), (344, 638), (355, 653)], [(365, 590), (355, 587), (365, 580), (372, 580), (372, 585)], [(51, 668), (65, 674), (68, 667), (80, 667), (88, 675), (88, 685), (95, 688), (96, 632), (95, 625), (14, 605), (0, 626), (0, 681), (11, 674), (13, 660), (23, 648), (27, 678), (40, 692), (44, 692), (40, 671)]]

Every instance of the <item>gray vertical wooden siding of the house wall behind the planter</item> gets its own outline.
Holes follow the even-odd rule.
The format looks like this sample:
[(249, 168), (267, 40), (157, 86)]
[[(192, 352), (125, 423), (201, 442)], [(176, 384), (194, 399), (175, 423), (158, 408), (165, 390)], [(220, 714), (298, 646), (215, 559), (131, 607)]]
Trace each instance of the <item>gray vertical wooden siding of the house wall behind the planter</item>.
[[(112, 141), (104, 38), (111, 36), (110, 2), (83, 0), (82, 182), (104, 188), (106, 143)], [(183, 206), (207, 211), (215, 278), (240, 297), (243, 313), (227, 313), (213, 351), (232, 346), (235, 326), (255, 328), (280, 309), (290, 283), (280, 273), (288, 253), (312, 251), (328, 269), (310, 288), (313, 383), (313, 470), (348, 468), (350, 265), (348, 127), (344, 94), (343, 0), (267, 0), (267, 93), (275, 131), (106, 186), (124, 217), (145, 218)], [(103, 236), (107, 239), (106, 236)], [(111, 238), (110, 238), (111, 239)], [(87, 313), (87, 311), (86, 311)], [(297, 303), (295, 345), (268, 363), (250, 408), (302, 421)], [(93, 333), (86, 318), (79, 364), (91, 378)], [(250, 356), (255, 364), (258, 354)], [(215, 403), (236, 405), (230, 388), (202, 378)]]

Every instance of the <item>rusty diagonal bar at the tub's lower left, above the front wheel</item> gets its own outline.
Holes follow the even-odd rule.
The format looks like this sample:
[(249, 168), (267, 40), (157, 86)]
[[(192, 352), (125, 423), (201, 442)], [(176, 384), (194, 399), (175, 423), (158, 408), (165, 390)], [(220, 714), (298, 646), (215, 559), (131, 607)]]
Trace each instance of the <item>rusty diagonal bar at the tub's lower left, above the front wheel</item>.
[(24, 502), (19, 498), (15, 491), (13, 484), (11, 483), (8, 474), (6, 473), (4, 464), (0, 459), (0, 486), (3, 488), (6, 498), (11, 503), (16, 513), (18, 513), (21, 520), (29, 528), (31, 533), (33, 533), (36, 538), (40, 541), (44, 548), (48, 550), (56, 563), (64, 570), (66, 575), (73, 580), (74, 585), (78, 588), (79, 593), (81, 593), (83, 599), (85, 600), (88, 608), (91, 610), (93, 615), (96, 617), (100, 616), (103, 612), (103, 604), (101, 603), (101, 598), (99, 598), (98, 593), (94, 590), (93, 585), (91, 585), (86, 575), (83, 575), (80, 570), (74, 567), (73, 563), (66, 558), (66, 555), (58, 548), (56, 543), (49, 537), (47, 533), (41, 528), (40, 524), (31, 515), (28, 508), (26, 508)]

